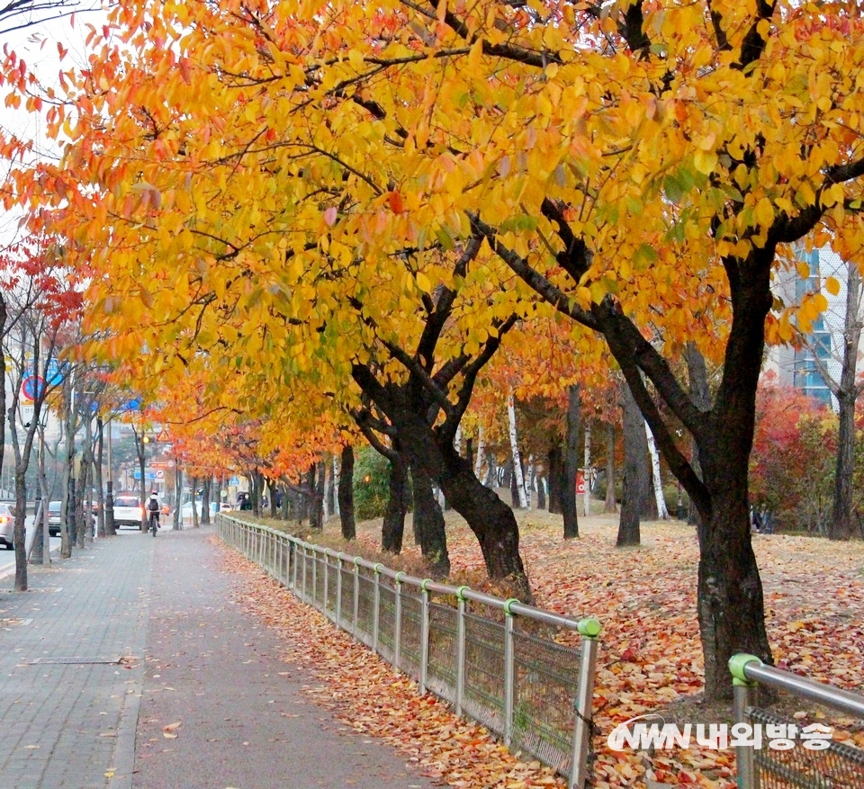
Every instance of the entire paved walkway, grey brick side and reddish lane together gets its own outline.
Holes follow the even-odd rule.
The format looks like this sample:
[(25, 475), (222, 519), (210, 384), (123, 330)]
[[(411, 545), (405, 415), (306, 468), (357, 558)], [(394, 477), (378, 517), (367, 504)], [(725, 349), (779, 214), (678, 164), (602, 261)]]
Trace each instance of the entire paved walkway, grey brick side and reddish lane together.
[(210, 534), (124, 532), (27, 592), (0, 580), (0, 789), (431, 789), (302, 694)]

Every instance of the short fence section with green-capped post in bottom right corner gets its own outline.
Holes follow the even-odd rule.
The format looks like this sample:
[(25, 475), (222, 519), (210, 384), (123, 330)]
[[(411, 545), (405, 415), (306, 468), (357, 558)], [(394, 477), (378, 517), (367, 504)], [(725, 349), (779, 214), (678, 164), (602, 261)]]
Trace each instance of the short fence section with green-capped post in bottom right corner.
[[(864, 721), (864, 696), (766, 666), (753, 655), (729, 661), (734, 682), (735, 760), (739, 789), (864, 789), (864, 750), (836, 742), (830, 727), (756, 706), (762, 684), (825, 704)], [(798, 741), (796, 741), (798, 740)]]

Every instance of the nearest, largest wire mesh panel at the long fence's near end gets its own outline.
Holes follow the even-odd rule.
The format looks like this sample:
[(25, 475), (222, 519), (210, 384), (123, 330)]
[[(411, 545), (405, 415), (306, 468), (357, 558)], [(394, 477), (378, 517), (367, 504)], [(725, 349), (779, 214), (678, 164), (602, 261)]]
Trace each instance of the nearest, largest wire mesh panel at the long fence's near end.
[(567, 775), (580, 650), (517, 628), (513, 654), (513, 748)]

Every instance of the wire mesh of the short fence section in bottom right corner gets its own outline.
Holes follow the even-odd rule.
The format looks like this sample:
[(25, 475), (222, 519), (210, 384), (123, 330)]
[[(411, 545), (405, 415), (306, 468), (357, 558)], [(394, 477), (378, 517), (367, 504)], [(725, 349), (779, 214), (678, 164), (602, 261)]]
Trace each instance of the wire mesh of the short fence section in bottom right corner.
[[(789, 722), (756, 707), (747, 709), (751, 724)], [(832, 740), (824, 750), (810, 750), (796, 743), (788, 750), (753, 750), (761, 789), (864, 789), (864, 750)]]

